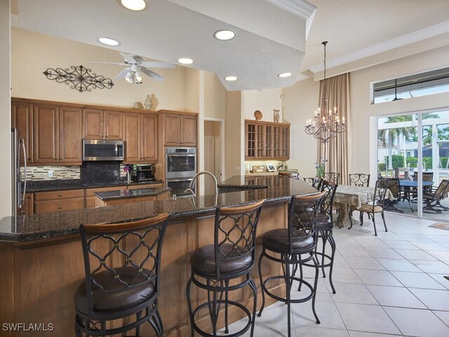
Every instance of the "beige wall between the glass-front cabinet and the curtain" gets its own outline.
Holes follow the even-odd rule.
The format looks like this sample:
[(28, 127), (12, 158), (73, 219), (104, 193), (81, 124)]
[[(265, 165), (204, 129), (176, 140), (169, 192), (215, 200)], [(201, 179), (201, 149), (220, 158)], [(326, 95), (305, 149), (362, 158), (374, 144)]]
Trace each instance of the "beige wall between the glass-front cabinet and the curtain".
[(283, 117), (290, 123), (290, 169), (298, 169), (301, 176), (315, 176), (317, 141), (304, 132), (307, 119), (318, 106), (319, 82), (304, 79), (294, 86), (283, 88)]

